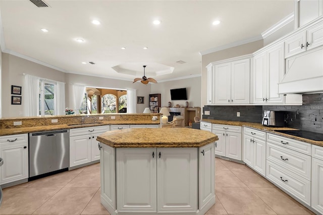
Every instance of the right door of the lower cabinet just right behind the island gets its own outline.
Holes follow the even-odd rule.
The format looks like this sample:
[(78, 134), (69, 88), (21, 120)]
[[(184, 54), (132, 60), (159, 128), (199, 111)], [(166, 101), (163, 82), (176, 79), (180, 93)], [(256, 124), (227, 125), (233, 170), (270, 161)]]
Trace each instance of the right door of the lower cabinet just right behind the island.
[(226, 156), (241, 160), (241, 133), (227, 131)]

